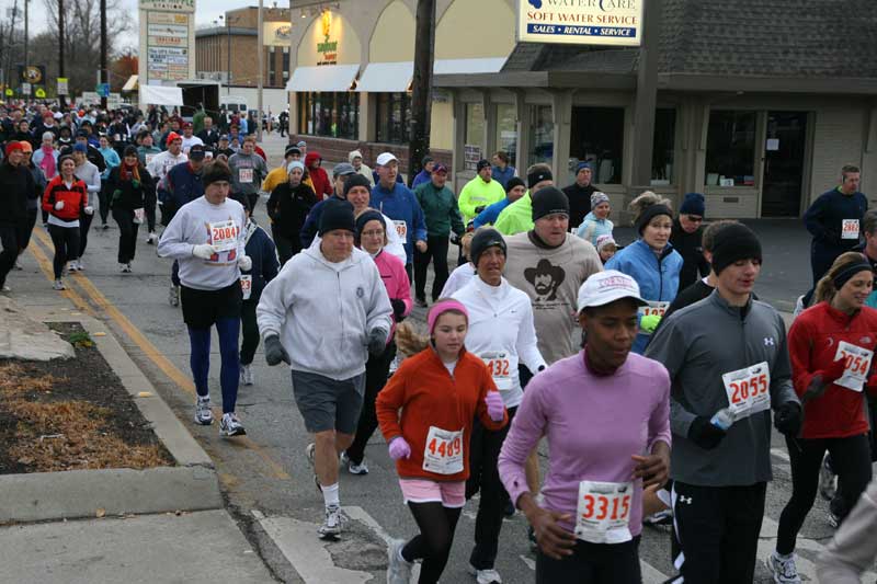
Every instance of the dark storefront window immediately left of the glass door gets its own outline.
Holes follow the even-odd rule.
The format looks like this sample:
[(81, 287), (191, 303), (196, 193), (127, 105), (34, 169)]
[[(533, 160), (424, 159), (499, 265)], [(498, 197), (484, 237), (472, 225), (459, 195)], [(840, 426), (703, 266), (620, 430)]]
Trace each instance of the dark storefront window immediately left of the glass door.
[(706, 138), (707, 186), (754, 186), (755, 112), (713, 111)]

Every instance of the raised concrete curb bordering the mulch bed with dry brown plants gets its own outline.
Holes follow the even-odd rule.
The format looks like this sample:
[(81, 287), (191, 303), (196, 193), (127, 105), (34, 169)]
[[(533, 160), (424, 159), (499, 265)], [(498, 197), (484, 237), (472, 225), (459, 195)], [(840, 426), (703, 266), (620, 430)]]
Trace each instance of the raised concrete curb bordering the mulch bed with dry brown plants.
[(32, 310), (31, 317), (82, 324), (179, 466), (3, 476), (0, 523), (94, 517), (99, 508), (106, 515), (224, 508), (213, 460), (106, 325), (86, 314), (54, 312), (47, 318), (45, 311)]

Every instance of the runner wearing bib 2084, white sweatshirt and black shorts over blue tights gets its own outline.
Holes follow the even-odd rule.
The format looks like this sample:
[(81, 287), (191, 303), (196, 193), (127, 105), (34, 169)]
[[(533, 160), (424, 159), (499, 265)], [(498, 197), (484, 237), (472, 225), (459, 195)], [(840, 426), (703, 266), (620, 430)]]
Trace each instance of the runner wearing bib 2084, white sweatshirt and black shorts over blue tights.
[(158, 254), (180, 262), (180, 299), (192, 347), (190, 363), (197, 399), (195, 422), (213, 423), (207, 374), (210, 368), (210, 328), (219, 335), (223, 419), (219, 435), (247, 434), (235, 405), (238, 399), (238, 334), (240, 333), (240, 270), (250, 270), (243, 230), (247, 217), (240, 203), (229, 201), (231, 171), (225, 162), (205, 164), (204, 196), (183, 205), (161, 234)]

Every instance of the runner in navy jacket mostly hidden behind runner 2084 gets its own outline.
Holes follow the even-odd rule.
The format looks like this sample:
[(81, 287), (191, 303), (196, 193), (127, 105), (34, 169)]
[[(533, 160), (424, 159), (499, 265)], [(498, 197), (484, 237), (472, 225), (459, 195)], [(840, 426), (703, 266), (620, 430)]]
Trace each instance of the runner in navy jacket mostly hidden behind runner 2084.
[[(209, 119), (209, 118), (208, 118)], [(259, 324), (255, 321), (255, 307), (262, 297), (262, 290), (269, 282), (274, 279), (280, 271), (277, 249), (264, 229), (259, 227), (252, 218), (249, 201), (241, 197), (238, 203), (247, 211), (247, 227), (243, 231), (243, 244), (247, 256), (252, 260), (250, 270), (241, 270), (240, 287), (243, 294), (241, 302), (240, 321), (240, 382), (252, 386), (252, 363), (255, 350), (259, 348)]]

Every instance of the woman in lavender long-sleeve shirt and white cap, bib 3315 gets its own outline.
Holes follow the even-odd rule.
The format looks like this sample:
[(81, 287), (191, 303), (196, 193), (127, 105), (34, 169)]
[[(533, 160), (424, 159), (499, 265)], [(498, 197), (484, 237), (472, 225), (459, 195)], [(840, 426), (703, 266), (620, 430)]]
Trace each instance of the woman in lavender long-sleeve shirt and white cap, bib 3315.
[[(670, 378), (630, 353), (645, 304), (619, 272), (582, 284), (585, 347), (529, 382), (503, 444), (500, 477), (539, 543), (537, 584), (641, 581), (642, 490), (670, 469)], [(550, 459), (539, 506), (524, 462), (543, 435)]]

